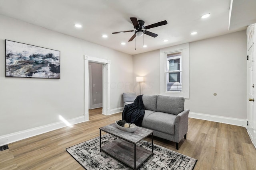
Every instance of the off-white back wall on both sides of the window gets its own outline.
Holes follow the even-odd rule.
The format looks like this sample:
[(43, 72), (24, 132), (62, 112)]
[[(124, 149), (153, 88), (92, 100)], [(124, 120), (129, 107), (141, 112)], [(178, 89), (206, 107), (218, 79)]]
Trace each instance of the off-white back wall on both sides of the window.
[[(185, 108), (246, 119), (246, 53), (246, 31), (189, 43), (190, 98)], [(159, 60), (159, 50), (133, 56), (133, 80), (145, 76), (143, 94), (160, 94)]]

